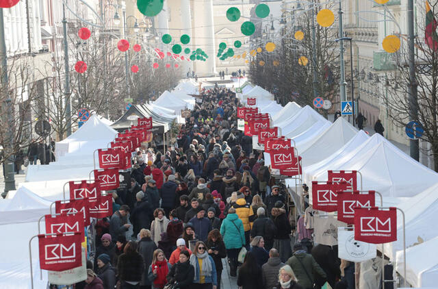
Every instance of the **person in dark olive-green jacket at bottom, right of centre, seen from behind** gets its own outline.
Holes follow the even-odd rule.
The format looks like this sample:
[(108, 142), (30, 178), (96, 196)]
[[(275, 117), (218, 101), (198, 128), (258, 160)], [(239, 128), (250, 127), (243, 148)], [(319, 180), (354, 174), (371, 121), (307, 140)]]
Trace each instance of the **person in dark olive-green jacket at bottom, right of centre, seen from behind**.
[(302, 247), (302, 244), (294, 244), (294, 254), (287, 262), (294, 271), (298, 284), (305, 289), (313, 288), (315, 283), (314, 273), (318, 274), (323, 279), (326, 279), (327, 275), (322, 270), (320, 265), (313, 259), (313, 256)]

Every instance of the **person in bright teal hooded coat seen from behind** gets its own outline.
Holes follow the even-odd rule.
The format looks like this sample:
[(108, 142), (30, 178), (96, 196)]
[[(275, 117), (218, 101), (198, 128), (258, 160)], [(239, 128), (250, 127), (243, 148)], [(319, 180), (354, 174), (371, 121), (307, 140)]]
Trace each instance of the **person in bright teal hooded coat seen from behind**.
[(227, 248), (230, 275), (237, 276), (237, 257), (242, 247), (245, 246), (245, 230), (242, 220), (235, 213), (235, 208), (228, 210), (227, 218), (224, 218), (220, 226), (220, 234)]

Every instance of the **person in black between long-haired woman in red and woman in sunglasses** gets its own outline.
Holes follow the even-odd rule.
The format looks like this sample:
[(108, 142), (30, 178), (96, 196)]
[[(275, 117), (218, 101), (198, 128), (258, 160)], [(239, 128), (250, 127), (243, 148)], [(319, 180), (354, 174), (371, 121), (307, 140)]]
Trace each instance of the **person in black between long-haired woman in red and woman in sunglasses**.
[(190, 264), (189, 258), (189, 251), (181, 251), (179, 261), (170, 268), (166, 278), (170, 284), (175, 284), (179, 289), (189, 289), (194, 279), (194, 267)]

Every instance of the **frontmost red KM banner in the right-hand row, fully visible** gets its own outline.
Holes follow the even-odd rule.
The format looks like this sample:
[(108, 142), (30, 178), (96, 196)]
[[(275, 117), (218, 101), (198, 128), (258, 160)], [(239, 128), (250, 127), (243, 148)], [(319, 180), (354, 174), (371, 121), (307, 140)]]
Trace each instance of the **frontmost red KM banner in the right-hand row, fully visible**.
[(397, 209), (355, 208), (355, 240), (383, 244), (397, 240)]

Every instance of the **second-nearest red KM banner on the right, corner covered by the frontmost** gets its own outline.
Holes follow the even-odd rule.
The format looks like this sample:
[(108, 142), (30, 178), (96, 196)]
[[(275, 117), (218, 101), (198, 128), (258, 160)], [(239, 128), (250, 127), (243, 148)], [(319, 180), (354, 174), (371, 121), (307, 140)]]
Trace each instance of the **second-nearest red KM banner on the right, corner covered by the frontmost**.
[(337, 219), (349, 225), (355, 223), (355, 208), (374, 207), (376, 195), (374, 190), (368, 193), (337, 191)]

